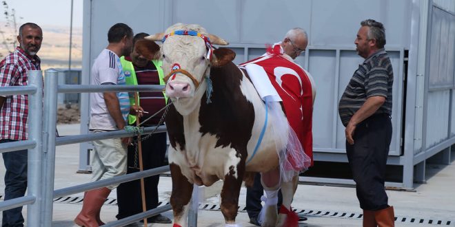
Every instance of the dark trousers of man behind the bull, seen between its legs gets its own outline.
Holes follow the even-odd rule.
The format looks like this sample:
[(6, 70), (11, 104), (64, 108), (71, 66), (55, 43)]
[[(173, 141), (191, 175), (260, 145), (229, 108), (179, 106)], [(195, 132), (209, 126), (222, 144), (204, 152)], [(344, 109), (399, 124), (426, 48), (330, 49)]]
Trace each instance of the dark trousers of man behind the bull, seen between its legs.
[[(261, 173), (256, 173), (254, 175), (254, 184), (251, 188), (247, 187), (247, 196), (246, 196), (246, 210), (248, 217), (257, 218), (259, 212), (261, 212), (261, 196), (264, 195), (264, 188), (261, 184)], [(281, 195), (281, 189), (278, 193), (278, 209), (280, 209), (281, 204), (283, 203), (283, 195)]]

